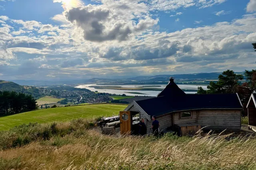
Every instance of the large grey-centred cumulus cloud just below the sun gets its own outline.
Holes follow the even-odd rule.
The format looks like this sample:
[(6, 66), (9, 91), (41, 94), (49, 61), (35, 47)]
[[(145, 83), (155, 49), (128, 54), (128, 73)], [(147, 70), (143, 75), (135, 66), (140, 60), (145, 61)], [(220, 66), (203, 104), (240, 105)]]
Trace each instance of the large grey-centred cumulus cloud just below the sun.
[(127, 40), (132, 33), (144, 31), (158, 22), (158, 20), (146, 16), (134, 26), (131, 20), (118, 19), (113, 11), (92, 5), (72, 8), (66, 12), (66, 18), (82, 28), (84, 39), (92, 42), (108, 40), (122, 42)]

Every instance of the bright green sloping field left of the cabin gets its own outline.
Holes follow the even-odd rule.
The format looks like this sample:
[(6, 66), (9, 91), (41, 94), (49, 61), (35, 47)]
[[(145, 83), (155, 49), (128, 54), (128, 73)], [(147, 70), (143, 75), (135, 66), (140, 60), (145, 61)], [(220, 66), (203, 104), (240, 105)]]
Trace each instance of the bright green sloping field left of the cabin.
[(72, 119), (106, 117), (118, 115), (119, 111), (123, 111), (127, 105), (98, 104), (84, 105), (74, 107), (59, 107), (50, 109), (40, 109), (36, 111), (20, 113), (0, 117), (0, 130), (8, 130), (22, 124), (30, 122), (49, 123), (54, 121), (69, 121)]

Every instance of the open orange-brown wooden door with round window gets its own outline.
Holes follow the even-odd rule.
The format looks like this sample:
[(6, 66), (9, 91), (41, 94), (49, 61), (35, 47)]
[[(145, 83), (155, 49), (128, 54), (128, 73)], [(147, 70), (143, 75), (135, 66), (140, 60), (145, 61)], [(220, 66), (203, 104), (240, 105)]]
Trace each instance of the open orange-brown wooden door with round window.
[(120, 111), (120, 134), (130, 134), (131, 132), (131, 113), (130, 111)]

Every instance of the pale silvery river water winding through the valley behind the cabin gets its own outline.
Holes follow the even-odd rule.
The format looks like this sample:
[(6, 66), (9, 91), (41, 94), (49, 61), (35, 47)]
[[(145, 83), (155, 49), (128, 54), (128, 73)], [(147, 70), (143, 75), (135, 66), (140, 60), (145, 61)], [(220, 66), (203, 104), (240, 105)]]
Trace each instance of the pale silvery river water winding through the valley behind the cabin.
[[(114, 89), (95, 89), (94, 87), (89, 87), (89, 86), (118, 86), (118, 87), (127, 87), (127, 88), (136, 88), (142, 86), (149, 86), (149, 85), (96, 85), (96, 84), (90, 84), (90, 85), (79, 85), (76, 88), (86, 88), (90, 91), (98, 91), (100, 93), (111, 93), (111, 94), (116, 94), (116, 95), (128, 95), (128, 96), (153, 96), (156, 97), (158, 93), (161, 91), (144, 91), (144, 90), (114, 90)], [(152, 85), (150, 85), (152, 86)], [(152, 88), (160, 88), (164, 89), (166, 85), (157, 85), (160, 87), (152, 87)], [(178, 85), (180, 89), (189, 89), (189, 90), (197, 90), (198, 87), (202, 87), (203, 89), (207, 89), (206, 85)], [(140, 95), (140, 94), (131, 94), (131, 93), (126, 93), (126, 92), (137, 92), (137, 93), (143, 93), (146, 95)], [(193, 91), (186, 91), (186, 94), (195, 94), (196, 92)]]

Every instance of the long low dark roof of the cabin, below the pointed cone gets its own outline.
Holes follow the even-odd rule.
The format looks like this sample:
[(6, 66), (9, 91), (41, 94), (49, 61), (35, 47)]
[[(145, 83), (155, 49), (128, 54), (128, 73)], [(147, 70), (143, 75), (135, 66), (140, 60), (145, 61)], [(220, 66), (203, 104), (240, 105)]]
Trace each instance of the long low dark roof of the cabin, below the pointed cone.
[(196, 109), (242, 109), (236, 94), (187, 94), (182, 96), (162, 96), (137, 101), (138, 105), (151, 117), (174, 111)]

